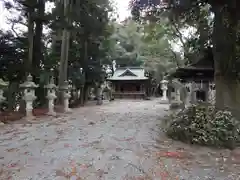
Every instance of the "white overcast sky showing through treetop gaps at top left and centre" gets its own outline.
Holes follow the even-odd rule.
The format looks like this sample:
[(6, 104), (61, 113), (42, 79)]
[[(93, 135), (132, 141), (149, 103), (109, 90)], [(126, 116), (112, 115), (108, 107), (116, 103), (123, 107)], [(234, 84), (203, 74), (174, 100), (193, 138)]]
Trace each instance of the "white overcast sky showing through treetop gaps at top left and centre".
[[(12, 0), (10, 0), (12, 1)], [(121, 22), (128, 16), (130, 16), (130, 11), (128, 10), (128, 4), (130, 0), (112, 0), (117, 8), (117, 13), (119, 15), (118, 21)], [(48, 7), (48, 6), (47, 6)], [(3, 7), (3, 2), (0, 0), (0, 29), (8, 29), (9, 25), (7, 25), (7, 17), (11, 17), (7, 10)]]

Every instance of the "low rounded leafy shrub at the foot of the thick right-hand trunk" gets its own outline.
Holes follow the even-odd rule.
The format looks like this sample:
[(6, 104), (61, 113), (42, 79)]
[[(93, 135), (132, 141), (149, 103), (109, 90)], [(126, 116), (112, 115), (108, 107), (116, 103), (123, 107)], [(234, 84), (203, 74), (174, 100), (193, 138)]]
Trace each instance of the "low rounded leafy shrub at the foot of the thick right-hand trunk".
[(167, 135), (191, 144), (234, 148), (239, 141), (239, 122), (229, 111), (213, 106), (192, 105), (176, 114), (167, 128)]

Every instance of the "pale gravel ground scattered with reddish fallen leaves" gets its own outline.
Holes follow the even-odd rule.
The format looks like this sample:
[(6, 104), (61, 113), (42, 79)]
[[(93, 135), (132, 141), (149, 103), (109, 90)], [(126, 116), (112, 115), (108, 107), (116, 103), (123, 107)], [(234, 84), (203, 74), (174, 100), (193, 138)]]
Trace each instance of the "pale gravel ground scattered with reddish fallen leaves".
[(238, 180), (240, 150), (189, 146), (161, 131), (160, 100), (115, 100), (0, 129), (1, 180)]

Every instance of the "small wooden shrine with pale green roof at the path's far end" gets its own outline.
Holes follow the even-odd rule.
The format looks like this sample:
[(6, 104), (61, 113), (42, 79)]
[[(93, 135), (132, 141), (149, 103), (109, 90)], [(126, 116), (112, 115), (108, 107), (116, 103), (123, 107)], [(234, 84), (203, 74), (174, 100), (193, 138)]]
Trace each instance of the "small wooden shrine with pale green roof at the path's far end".
[(117, 68), (108, 81), (112, 84), (114, 98), (144, 98), (148, 77), (140, 67)]

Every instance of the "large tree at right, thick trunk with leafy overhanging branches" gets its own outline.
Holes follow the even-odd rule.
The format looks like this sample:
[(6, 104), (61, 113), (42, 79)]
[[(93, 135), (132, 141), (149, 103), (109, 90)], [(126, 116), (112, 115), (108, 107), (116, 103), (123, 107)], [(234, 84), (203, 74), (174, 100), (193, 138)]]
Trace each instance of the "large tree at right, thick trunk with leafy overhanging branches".
[[(189, 55), (212, 47), (215, 64), (216, 107), (236, 112), (240, 106), (239, 91), (239, 10), (237, 0), (166, 0), (131, 1), (132, 14), (137, 21), (161, 23), (164, 15), (172, 26), (196, 27), (198, 36), (184, 45), (185, 59)], [(231, 88), (230, 88), (231, 87)]]

